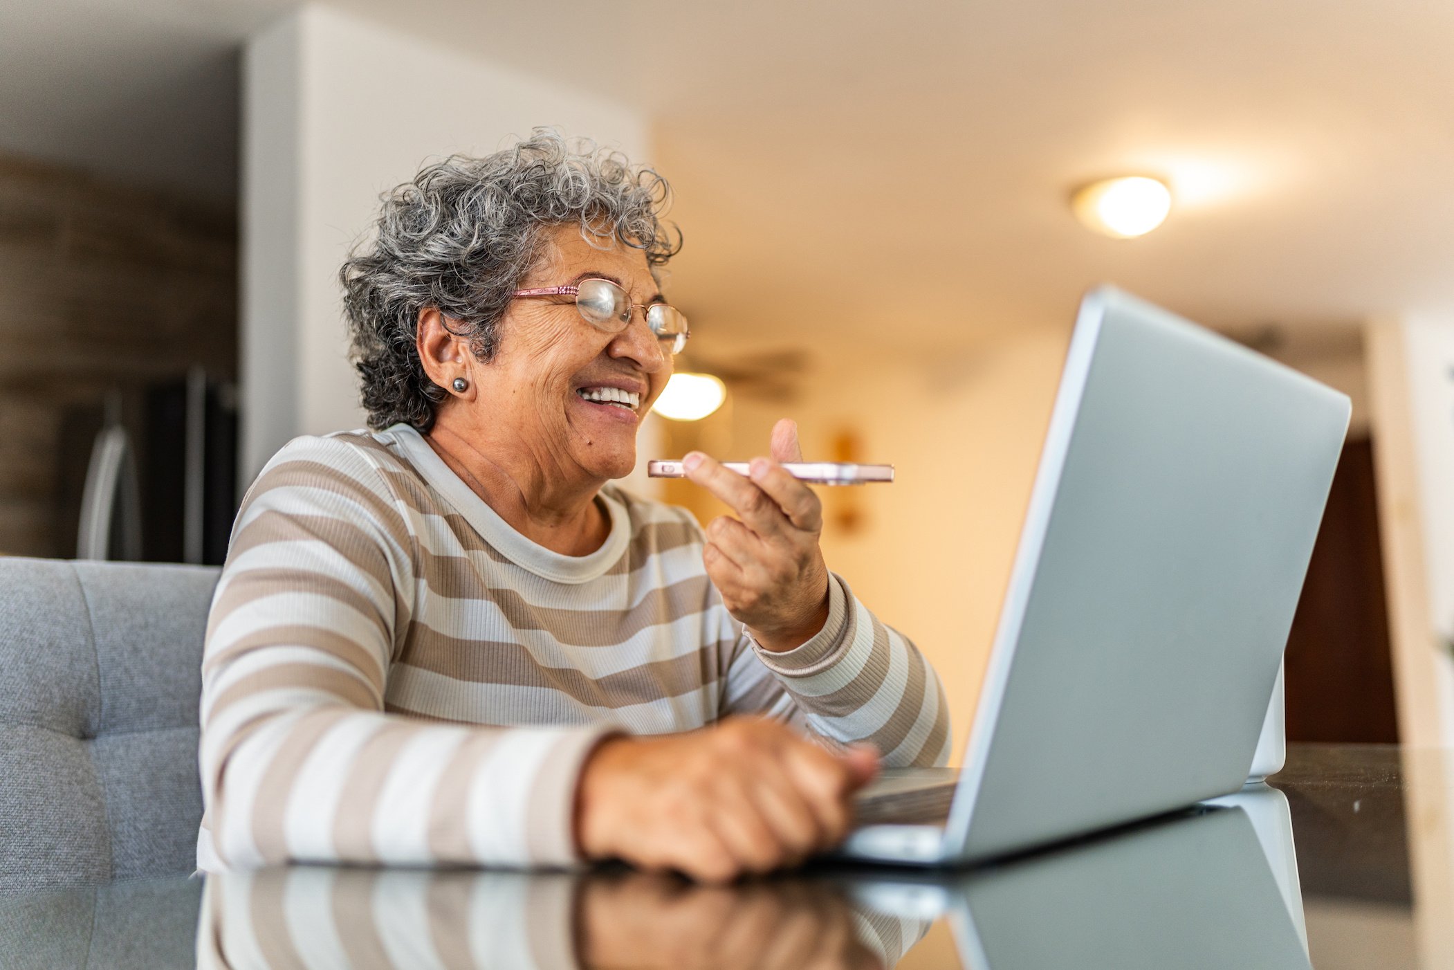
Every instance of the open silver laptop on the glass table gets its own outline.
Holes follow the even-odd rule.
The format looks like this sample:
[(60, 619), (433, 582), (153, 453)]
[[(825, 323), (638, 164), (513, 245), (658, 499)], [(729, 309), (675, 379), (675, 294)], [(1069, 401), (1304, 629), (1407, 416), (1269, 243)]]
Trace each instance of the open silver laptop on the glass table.
[(968, 864), (1242, 788), (1346, 396), (1114, 288), (1080, 304), (964, 766), (838, 855)]

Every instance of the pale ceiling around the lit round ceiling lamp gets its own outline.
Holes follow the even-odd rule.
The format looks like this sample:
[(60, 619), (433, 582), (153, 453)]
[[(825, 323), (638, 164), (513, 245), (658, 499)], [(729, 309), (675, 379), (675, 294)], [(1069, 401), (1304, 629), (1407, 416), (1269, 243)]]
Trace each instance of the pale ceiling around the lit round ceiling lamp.
[[(647, 109), (708, 345), (968, 346), (1099, 281), (1218, 326), (1454, 311), (1454, 4), (337, 6)], [(281, 7), (7, 0), (0, 147), (222, 198)], [(1067, 195), (1122, 172), (1178, 209), (1093, 237)]]

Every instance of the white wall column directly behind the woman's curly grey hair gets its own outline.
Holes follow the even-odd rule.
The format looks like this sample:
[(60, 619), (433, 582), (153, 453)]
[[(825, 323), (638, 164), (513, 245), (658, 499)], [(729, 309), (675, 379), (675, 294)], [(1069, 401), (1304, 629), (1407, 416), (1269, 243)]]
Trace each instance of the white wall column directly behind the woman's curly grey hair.
[(385, 189), (537, 125), (646, 161), (640, 112), (304, 6), (243, 64), (244, 481), (289, 438), (364, 423), (336, 273)]

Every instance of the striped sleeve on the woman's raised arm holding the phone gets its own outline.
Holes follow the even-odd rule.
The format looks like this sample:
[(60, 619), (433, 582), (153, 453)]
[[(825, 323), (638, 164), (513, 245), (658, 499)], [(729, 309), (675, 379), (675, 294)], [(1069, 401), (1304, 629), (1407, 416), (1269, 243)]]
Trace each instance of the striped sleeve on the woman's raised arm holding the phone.
[(949, 758), (949, 707), (933, 668), (836, 573), (827, 622), (807, 643), (771, 653), (737, 636), (724, 710), (779, 717), (830, 743), (871, 742), (893, 768)]

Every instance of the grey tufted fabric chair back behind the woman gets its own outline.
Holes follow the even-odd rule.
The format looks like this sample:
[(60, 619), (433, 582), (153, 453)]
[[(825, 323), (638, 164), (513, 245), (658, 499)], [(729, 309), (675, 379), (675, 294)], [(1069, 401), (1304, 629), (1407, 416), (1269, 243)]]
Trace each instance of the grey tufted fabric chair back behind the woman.
[(192, 870), (218, 572), (0, 558), (0, 891)]

